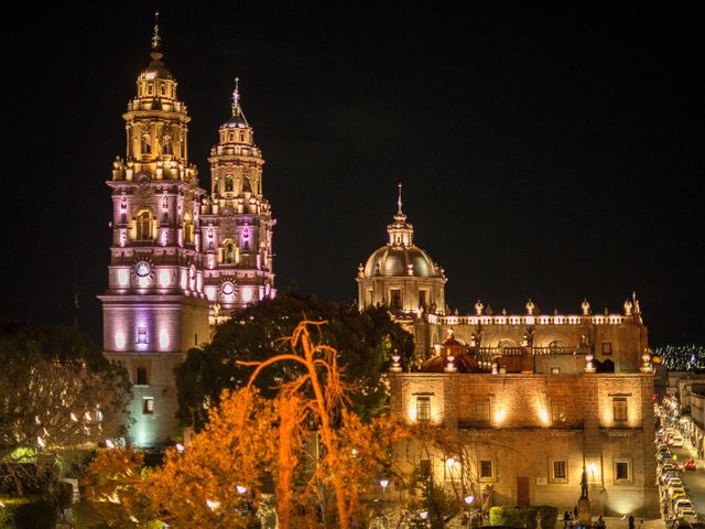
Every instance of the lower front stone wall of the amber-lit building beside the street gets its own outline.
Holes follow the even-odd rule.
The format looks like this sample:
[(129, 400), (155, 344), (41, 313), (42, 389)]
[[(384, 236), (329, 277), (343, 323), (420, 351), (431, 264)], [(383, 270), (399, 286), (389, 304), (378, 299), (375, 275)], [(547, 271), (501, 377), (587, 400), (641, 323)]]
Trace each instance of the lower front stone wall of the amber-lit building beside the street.
[[(466, 468), (455, 472), (490, 485), (491, 504), (517, 505), (528, 495), (531, 505), (572, 509), (585, 467), (595, 514), (658, 515), (650, 374), (395, 374), (391, 380), (392, 411), (415, 422), (416, 399), (429, 398), (431, 422), (443, 425), (448, 447), (466, 454)], [(404, 450), (402, 463), (419, 464), (427, 458), (423, 452), (419, 443)], [(448, 482), (447, 455), (432, 452), (435, 478)], [(481, 461), (491, 462), (491, 476), (480, 476)]]

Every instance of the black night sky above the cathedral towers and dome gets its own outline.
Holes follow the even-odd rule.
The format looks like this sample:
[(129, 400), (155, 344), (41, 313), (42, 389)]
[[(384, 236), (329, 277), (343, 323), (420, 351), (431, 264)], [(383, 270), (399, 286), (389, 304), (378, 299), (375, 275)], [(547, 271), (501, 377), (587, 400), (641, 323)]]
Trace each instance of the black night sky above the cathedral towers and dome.
[[(685, 7), (191, 2), (165, 63), (206, 156), (232, 78), (279, 220), (278, 287), (351, 301), (397, 183), (452, 309), (621, 310), (652, 344), (705, 342), (702, 21)], [(454, 3), (454, 2), (447, 2)], [(111, 161), (149, 62), (151, 2), (54, 2), (2, 34), (0, 316), (99, 336)]]

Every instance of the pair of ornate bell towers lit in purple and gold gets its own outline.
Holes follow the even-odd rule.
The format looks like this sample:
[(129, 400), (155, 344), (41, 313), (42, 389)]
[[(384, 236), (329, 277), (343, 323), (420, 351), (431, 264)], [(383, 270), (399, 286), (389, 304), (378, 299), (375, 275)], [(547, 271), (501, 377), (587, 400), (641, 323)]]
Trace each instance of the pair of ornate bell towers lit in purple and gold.
[(273, 298), (272, 218), (264, 160), (245, 118), (236, 79), (231, 116), (212, 149), (210, 193), (188, 163), (187, 108), (166, 68), (159, 25), (151, 62), (123, 114), (126, 155), (107, 182), (112, 246), (104, 312), (105, 355), (133, 384), (128, 442), (165, 443), (176, 428), (173, 369), (209, 342), (235, 309)]

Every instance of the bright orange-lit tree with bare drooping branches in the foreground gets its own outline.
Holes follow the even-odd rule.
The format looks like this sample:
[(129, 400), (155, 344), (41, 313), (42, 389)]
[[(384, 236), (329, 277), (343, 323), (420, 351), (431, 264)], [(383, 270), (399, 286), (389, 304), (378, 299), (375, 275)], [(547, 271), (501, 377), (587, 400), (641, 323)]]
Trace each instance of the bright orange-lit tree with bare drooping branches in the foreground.
[[(126, 477), (126, 484), (109, 481), (107, 489), (100, 488), (106, 474), (137, 475), (122, 451), (106, 452), (106, 457), (115, 453), (118, 469), (107, 472), (111, 467), (101, 461), (91, 465), (89, 497), (98, 508), (122, 505), (121, 520), (132, 525), (158, 516), (184, 529), (250, 527), (272, 492), (283, 529), (349, 528), (354, 520), (366, 520), (361, 498), (388, 472), (391, 447), (404, 431), (387, 415), (364, 422), (350, 412), (337, 350), (313, 341), (322, 335), (321, 325), (300, 324), (289, 352), (241, 363), (251, 371), (246, 387), (225, 390), (192, 444), (170, 451), (163, 467), (138, 483)], [(264, 397), (256, 382), (282, 364), (299, 366), (300, 376), (281, 384), (272, 398)], [(322, 447), (313, 464), (304, 450), (312, 439)], [(150, 508), (138, 512), (133, 492), (145, 498), (137, 504)]]

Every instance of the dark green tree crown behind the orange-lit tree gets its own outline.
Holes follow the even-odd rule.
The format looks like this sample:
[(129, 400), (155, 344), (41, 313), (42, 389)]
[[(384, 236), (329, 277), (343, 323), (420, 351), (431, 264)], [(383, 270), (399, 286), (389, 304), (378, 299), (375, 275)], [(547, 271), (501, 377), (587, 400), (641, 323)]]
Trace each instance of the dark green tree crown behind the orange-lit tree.
[[(237, 365), (236, 360), (261, 361), (286, 352), (283, 338), (291, 336), (302, 320), (328, 322), (321, 328), (317, 342), (339, 352), (344, 379), (355, 389), (352, 409), (365, 418), (379, 411), (387, 399), (381, 375), (389, 357), (398, 349), (410, 358), (413, 337), (391, 321), (386, 309), (360, 313), (355, 305), (284, 293), (236, 312), (232, 320), (218, 327), (210, 344), (188, 352), (176, 368), (182, 422), (200, 430), (207, 409), (218, 403), (221, 390), (247, 384), (252, 368)], [(299, 375), (299, 366), (281, 363), (263, 373), (257, 386), (263, 396), (272, 397), (280, 382)]]

